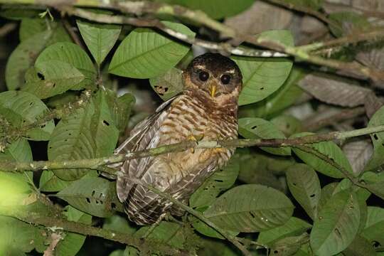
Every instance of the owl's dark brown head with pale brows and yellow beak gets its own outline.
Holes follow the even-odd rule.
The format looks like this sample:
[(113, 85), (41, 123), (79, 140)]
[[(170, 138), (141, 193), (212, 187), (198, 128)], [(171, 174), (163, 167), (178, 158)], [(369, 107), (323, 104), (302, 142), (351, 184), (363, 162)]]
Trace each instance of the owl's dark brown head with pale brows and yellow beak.
[(208, 97), (238, 97), (242, 75), (236, 63), (219, 53), (206, 53), (194, 58), (183, 71), (187, 89), (198, 89)]

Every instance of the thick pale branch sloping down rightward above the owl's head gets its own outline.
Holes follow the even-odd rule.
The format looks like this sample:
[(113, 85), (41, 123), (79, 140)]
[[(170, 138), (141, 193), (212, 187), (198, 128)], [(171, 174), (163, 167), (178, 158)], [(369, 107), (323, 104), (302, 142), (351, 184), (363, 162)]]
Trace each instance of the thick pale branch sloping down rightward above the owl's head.
[[(176, 18), (182, 18), (183, 20), (191, 21), (191, 23), (198, 23), (201, 26), (206, 26), (207, 28), (213, 29), (214, 31), (219, 32), (221, 36), (224, 36), (225, 38), (236, 38), (238, 41), (245, 41), (247, 43), (253, 44), (254, 46), (261, 46), (263, 48), (268, 48), (277, 52), (287, 53), (298, 58), (299, 60), (314, 63), (316, 65), (324, 65), (336, 70), (344, 70), (349, 73), (363, 75), (374, 80), (384, 80), (384, 72), (381, 70), (367, 68), (358, 63), (346, 63), (343, 61), (322, 58), (318, 55), (310, 55), (305, 50), (293, 46), (284, 46), (282, 43), (277, 41), (255, 38), (255, 36), (241, 35), (235, 31), (235, 29), (230, 28), (229, 26), (225, 26), (225, 24), (210, 18), (203, 11), (192, 11), (183, 6), (151, 1), (117, 1), (113, 3), (107, 2), (106, 4), (105, 1), (101, 0), (77, 0), (71, 1), (70, 3), (63, 3), (61, 0), (0, 0), (0, 3), (46, 5), (56, 8), (60, 11), (70, 11), (70, 6), (88, 6), (102, 9), (113, 9), (115, 11), (121, 11), (125, 14), (134, 14), (137, 16), (142, 16), (143, 14), (152, 14), (155, 16), (174, 16)], [(112, 17), (113, 16), (110, 16), (110, 18)], [(128, 19), (131, 19), (132, 22), (134, 21), (132, 18)], [(137, 18), (134, 19), (137, 21)]]

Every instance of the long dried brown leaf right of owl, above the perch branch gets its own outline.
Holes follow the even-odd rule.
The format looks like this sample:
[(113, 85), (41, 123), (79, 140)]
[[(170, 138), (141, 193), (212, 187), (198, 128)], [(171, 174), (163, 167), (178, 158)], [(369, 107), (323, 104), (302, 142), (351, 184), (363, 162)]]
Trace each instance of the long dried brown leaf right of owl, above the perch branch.
[(350, 85), (348, 82), (314, 74), (307, 75), (299, 82), (299, 86), (322, 102), (343, 107), (364, 105), (366, 96), (371, 92), (369, 89)]

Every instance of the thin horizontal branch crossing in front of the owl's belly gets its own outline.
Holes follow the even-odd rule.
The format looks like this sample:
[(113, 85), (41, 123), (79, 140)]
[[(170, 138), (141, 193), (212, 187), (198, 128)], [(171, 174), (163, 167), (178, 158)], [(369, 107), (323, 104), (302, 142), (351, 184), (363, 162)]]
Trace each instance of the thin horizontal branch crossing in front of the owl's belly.
[[(302, 144), (310, 144), (314, 142), (324, 142), (334, 139), (348, 139), (351, 137), (358, 137), (375, 132), (384, 132), (384, 125), (377, 127), (367, 127), (363, 129), (355, 129), (346, 132), (329, 132), (326, 134), (314, 134), (305, 137), (294, 139), (229, 139), (220, 141), (201, 141), (192, 142), (184, 141), (176, 144), (169, 144), (159, 146), (154, 149), (144, 149), (142, 151), (129, 152), (127, 154), (117, 154), (114, 156), (102, 157), (97, 159), (80, 159), (68, 161), (31, 161), (31, 162), (15, 162), (15, 161), (1, 161), (0, 171), (38, 171), (38, 170), (53, 170), (53, 169), (98, 169), (109, 164), (119, 163), (131, 159), (137, 159), (147, 156), (158, 156), (160, 154), (167, 154), (176, 151), (185, 151), (187, 149), (212, 149), (220, 147), (245, 147), (245, 146), (267, 146), (267, 147), (280, 147), (280, 146), (297, 146)], [(114, 169), (102, 169), (109, 174), (115, 174)]]

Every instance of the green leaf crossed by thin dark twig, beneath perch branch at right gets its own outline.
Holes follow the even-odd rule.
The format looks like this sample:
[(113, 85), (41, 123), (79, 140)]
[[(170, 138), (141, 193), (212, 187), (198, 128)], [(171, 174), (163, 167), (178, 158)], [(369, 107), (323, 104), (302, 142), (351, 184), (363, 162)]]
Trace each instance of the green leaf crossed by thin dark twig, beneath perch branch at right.
[[(303, 137), (310, 135), (311, 133), (305, 132), (300, 134), (294, 134), (292, 138)], [(351, 164), (349, 164), (346, 155), (343, 151), (334, 143), (334, 142), (317, 142), (312, 143), (311, 148), (316, 151), (319, 151), (321, 154), (326, 155), (329, 159), (333, 160), (338, 164), (338, 166), (343, 167), (349, 173), (353, 174)], [(332, 166), (328, 162), (320, 159), (313, 154), (306, 153), (301, 149), (293, 148), (294, 154), (297, 154), (304, 163), (311, 166), (316, 171), (319, 171), (321, 174), (326, 176), (331, 176), (333, 178), (343, 178), (344, 175), (336, 167)]]

